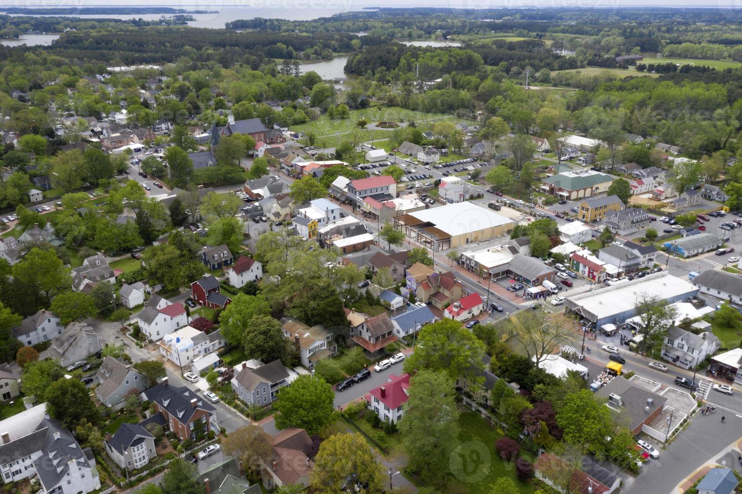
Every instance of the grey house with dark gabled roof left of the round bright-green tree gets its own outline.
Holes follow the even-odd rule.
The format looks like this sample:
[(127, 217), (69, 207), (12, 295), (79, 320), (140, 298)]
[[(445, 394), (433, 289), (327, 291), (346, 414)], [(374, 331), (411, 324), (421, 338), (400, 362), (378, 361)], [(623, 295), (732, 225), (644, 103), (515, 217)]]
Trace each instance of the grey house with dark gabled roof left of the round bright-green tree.
[(273, 360), (257, 369), (249, 369), (246, 363), (243, 363), (242, 369), (239, 369), (229, 383), (240, 400), (246, 404), (267, 406), (275, 401), (280, 389), (289, 386), (295, 378), (297, 378), (295, 372), (286, 369), (280, 360)]

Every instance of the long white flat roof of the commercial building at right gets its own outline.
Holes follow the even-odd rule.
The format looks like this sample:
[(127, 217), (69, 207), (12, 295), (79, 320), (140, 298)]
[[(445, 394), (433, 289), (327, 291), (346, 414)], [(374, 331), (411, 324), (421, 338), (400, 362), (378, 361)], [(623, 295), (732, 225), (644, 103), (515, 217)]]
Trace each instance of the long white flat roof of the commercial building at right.
[(647, 294), (665, 300), (689, 292), (697, 292), (697, 286), (688, 280), (674, 277), (667, 271), (649, 274), (641, 280), (631, 280), (614, 286), (606, 286), (594, 292), (568, 297), (571, 303), (582, 307), (598, 319), (634, 309), (637, 297)]

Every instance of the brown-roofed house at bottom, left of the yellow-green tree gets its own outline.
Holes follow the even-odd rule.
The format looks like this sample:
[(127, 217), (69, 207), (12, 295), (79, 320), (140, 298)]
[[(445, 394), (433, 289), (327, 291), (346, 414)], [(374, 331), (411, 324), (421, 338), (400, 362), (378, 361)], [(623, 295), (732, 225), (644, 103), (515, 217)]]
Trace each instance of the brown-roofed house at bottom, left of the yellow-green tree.
[[(310, 458), (312, 438), (304, 429), (289, 427), (273, 436), (272, 457), (260, 460), (260, 478), (267, 490), (281, 486), (309, 487), (309, 475), (314, 468)], [(209, 490), (206, 491), (209, 494)]]

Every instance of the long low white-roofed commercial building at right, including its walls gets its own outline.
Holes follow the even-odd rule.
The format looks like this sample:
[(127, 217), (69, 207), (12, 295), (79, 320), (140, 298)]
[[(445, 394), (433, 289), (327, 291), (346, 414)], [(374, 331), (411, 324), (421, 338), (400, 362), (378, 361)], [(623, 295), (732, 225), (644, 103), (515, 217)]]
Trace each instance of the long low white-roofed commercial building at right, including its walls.
[(698, 287), (661, 271), (640, 280), (626, 281), (569, 297), (565, 302), (565, 312), (578, 314), (594, 328), (600, 328), (604, 324), (621, 324), (629, 317), (637, 315), (634, 305), (645, 294), (669, 303), (685, 302), (698, 294)]

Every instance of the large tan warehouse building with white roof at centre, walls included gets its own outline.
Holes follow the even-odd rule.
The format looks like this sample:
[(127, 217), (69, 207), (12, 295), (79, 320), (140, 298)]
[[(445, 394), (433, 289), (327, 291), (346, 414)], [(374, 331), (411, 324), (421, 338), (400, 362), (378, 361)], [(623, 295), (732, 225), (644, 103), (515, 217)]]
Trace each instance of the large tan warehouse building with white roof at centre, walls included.
[(434, 251), (502, 237), (516, 224), (471, 202), (455, 202), (394, 218), (395, 228)]

